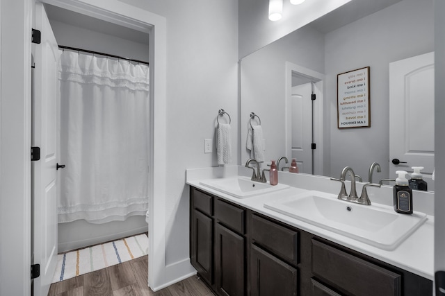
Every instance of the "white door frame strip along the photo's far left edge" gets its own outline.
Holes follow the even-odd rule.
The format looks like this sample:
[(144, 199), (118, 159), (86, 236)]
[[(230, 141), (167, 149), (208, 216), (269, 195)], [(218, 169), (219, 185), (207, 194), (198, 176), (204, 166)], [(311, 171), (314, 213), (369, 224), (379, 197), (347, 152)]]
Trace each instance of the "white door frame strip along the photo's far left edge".
[(27, 296), (31, 295), (33, 8), (32, 0), (1, 2), (0, 295)]

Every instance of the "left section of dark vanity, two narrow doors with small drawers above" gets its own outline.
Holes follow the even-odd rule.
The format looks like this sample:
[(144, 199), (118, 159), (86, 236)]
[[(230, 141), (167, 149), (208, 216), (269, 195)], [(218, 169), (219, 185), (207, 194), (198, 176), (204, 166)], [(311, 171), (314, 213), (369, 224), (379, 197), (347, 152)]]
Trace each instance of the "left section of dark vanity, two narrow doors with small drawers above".
[(245, 212), (191, 189), (191, 264), (218, 295), (246, 295)]

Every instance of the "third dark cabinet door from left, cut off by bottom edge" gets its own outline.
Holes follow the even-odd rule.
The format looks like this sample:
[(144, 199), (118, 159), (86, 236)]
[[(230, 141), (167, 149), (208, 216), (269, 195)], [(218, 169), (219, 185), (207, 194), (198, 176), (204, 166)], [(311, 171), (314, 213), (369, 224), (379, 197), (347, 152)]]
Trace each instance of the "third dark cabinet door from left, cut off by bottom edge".
[(296, 296), (297, 270), (256, 245), (250, 248), (250, 295)]

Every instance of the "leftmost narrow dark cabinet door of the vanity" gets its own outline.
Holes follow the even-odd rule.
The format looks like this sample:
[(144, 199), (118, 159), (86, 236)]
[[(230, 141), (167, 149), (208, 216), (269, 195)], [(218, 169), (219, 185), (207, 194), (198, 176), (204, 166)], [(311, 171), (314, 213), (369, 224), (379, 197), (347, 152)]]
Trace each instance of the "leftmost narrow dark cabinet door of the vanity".
[(200, 211), (193, 210), (191, 223), (191, 263), (200, 276), (211, 285), (213, 220)]

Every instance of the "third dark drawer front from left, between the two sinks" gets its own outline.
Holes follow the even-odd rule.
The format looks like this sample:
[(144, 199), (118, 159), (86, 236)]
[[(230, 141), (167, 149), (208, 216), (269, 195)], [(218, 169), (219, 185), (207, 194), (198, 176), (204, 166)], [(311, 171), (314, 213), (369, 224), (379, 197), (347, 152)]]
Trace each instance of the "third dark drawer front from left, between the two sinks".
[(252, 215), (252, 240), (282, 259), (298, 263), (298, 232)]

